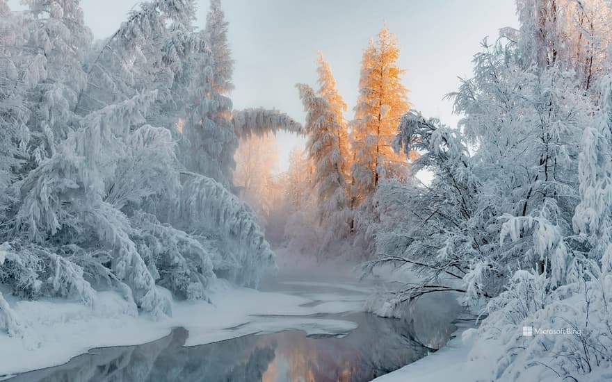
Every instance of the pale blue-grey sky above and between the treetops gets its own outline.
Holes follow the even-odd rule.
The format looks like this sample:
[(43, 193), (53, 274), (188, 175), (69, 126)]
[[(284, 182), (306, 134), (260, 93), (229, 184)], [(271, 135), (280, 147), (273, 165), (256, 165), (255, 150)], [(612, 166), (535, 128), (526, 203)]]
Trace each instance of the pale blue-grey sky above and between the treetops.
[[(14, 9), (19, 1), (10, 0)], [(134, 0), (82, 0), (86, 23), (97, 38), (111, 35)], [(208, 1), (200, 0), (204, 25)], [(349, 111), (357, 98), (362, 52), (383, 20), (400, 41), (399, 64), (414, 108), (456, 124), (444, 94), (458, 87), (457, 76), (472, 74), (472, 56), (485, 36), (497, 38), (517, 26), (513, 0), (224, 0), (229, 40), (236, 60), (235, 108), (277, 108), (303, 122), (296, 83), (316, 84), (316, 51), (330, 62)], [(280, 134), (281, 167), (300, 140)]]

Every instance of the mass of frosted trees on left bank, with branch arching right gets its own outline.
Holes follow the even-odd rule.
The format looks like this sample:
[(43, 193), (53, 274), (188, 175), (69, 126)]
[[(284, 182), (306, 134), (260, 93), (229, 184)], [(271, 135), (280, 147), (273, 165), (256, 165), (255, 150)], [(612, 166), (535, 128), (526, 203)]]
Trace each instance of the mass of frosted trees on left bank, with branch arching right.
[[(204, 31), (195, 1), (152, 0), (94, 44), (78, 1), (29, 6), (0, 1), (0, 283), (88, 306), (115, 290), (154, 317), (171, 313), (160, 286), (256, 286), (274, 256), (230, 190), (237, 133), (300, 126), (232, 118), (219, 1)], [(0, 330), (27, 330), (1, 295)]]

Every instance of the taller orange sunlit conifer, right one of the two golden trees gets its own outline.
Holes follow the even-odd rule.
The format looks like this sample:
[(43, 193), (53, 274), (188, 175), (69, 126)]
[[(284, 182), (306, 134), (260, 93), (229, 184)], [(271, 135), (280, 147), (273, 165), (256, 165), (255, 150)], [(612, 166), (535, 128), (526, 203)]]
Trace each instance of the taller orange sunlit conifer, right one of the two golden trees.
[(410, 171), (405, 158), (392, 149), (401, 117), (410, 110), (408, 89), (401, 81), (405, 71), (397, 65), (399, 53), (398, 41), (386, 25), (364, 52), (351, 122), (353, 207), (373, 194), (381, 178), (405, 179)]

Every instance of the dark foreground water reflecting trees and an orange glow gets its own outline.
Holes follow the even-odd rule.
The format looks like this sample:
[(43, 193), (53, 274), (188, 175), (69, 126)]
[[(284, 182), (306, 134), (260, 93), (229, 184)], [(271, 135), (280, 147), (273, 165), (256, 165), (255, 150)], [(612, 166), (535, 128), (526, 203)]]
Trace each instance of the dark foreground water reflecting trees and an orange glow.
[(370, 381), (427, 354), (405, 322), (365, 313), (346, 317), (359, 327), (345, 338), (308, 338), (291, 331), (248, 335), (183, 347), (188, 333), (134, 347), (95, 349), (65, 365), (20, 374), (11, 382), (65, 381)]

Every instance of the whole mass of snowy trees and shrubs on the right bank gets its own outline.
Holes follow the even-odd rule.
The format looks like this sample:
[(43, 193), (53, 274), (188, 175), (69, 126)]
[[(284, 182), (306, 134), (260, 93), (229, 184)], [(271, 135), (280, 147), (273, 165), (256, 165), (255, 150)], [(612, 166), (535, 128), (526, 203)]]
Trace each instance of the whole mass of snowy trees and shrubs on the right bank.
[[(609, 82), (595, 70), (609, 60), (594, 53), (607, 44), (607, 31), (584, 47), (571, 16), (605, 15), (606, 7), (520, 1), (520, 31), (485, 41), (474, 77), (451, 94), (464, 115), (459, 128), (414, 112), (399, 126), (395, 148), (419, 151), (413, 169), (428, 168), (434, 178), (396, 188), (410, 217), (376, 237), (381, 258), (366, 269), (410, 265), (421, 280), (393, 292), (379, 313), (432, 292), (484, 299), (481, 338), (505, 349), (494, 380), (597, 379), (612, 359)], [(585, 52), (602, 60), (593, 71), (579, 70)], [(522, 326), (575, 334), (528, 337)]]

